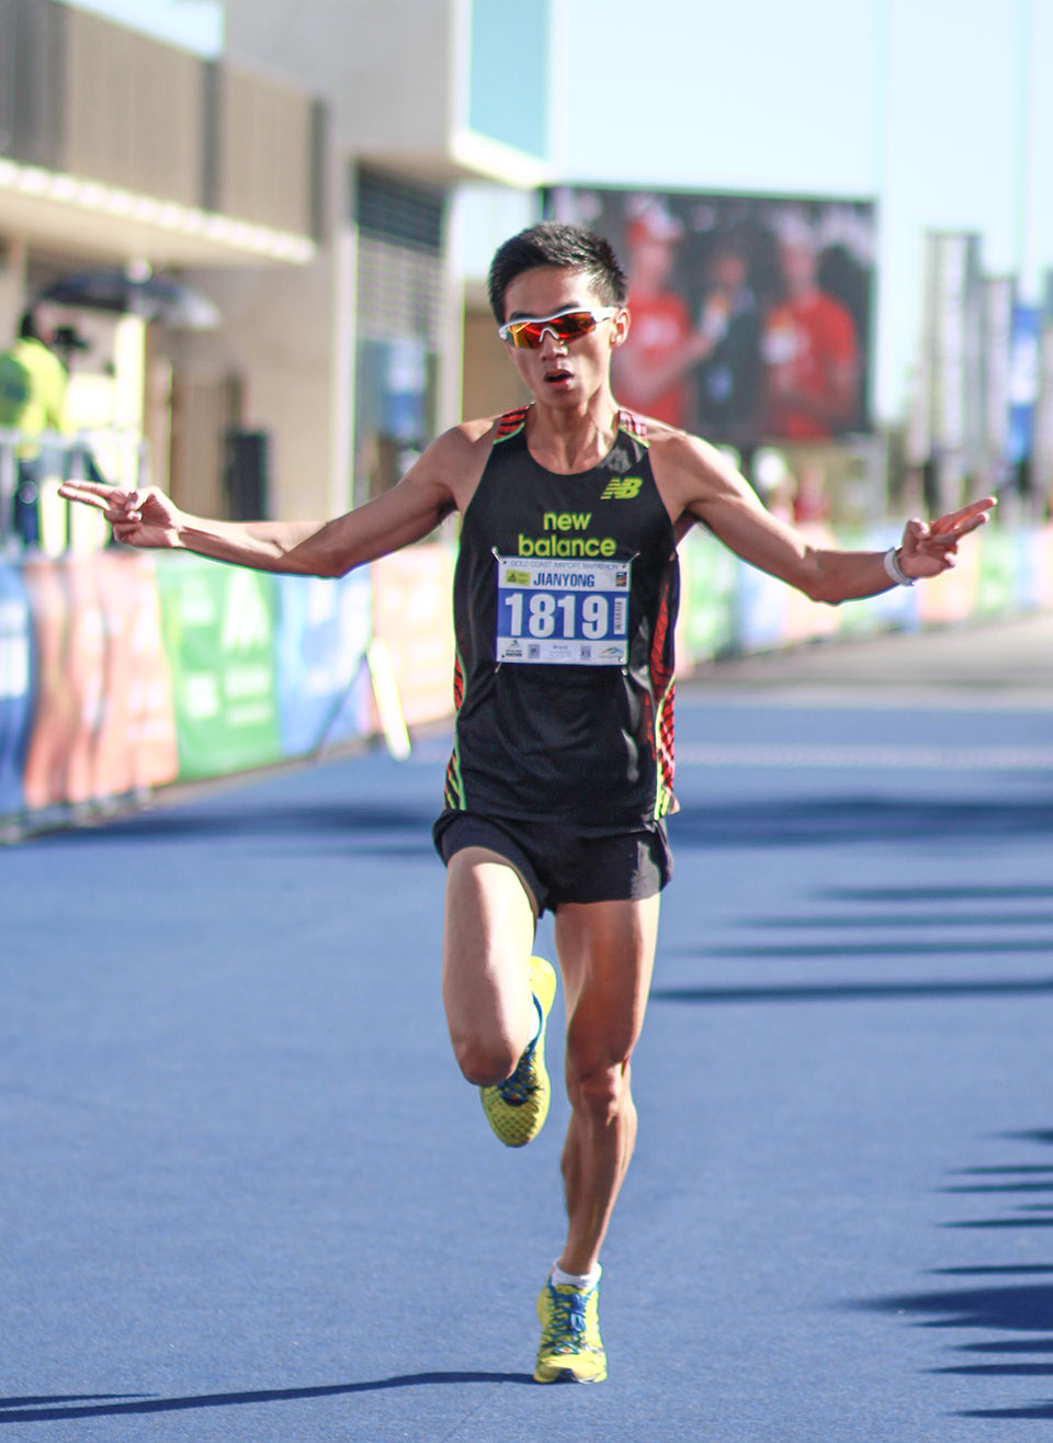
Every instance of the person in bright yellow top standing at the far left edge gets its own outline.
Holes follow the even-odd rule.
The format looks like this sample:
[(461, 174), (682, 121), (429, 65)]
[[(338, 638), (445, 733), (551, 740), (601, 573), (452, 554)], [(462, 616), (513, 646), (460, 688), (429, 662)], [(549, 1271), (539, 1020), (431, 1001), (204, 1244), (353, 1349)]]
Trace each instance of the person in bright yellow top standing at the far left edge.
[(27, 547), (40, 541), (40, 482), (49, 465), (33, 437), (65, 427), (69, 377), (52, 345), (49, 315), (38, 307), (23, 315), (17, 341), (0, 352), (0, 427), (22, 433), (13, 514), (0, 530), (13, 525)]

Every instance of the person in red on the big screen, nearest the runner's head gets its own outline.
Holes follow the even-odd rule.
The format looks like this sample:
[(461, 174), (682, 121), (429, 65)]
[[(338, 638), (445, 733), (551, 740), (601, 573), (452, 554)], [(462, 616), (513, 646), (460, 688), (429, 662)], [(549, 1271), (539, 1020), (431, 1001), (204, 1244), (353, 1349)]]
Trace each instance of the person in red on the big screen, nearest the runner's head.
[(630, 411), (669, 426), (691, 423), (688, 374), (713, 351), (695, 330), (669, 277), (684, 227), (655, 198), (639, 201), (626, 227), (629, 313), (625, 345), (614, 354), (614, 394)]

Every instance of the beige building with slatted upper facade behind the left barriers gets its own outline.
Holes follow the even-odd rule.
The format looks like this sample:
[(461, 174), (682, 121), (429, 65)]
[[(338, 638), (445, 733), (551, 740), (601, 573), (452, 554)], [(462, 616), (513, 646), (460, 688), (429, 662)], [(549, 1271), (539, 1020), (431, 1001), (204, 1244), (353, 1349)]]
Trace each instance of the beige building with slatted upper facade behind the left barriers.
[[(512, 51), (496, 0), (228, 0), (209, 56), (0, 0), (0, 343), (71, 276), (175, 277), (213, 326), (68, 307), (72, 424), (146, 437), (190, 511), (378, 494), (462, 416), (462, 188), (550, 179), (550, 3)], [(515, 395), (511, 368), (469, 372)]]

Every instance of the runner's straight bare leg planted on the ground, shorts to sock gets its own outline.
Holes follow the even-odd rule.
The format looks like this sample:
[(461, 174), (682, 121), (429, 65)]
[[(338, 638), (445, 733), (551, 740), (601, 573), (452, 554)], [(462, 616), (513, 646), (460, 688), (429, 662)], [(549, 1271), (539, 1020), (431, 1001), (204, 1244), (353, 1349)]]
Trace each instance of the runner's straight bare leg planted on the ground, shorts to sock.
[(636, 1141), (629, 1058), (643, 1026), (659, 898), (564, 905), (555, 945), (567, 996), (570, 1127), (563, 1149), (567, 1244), (558, 1264), (590, 1273)]

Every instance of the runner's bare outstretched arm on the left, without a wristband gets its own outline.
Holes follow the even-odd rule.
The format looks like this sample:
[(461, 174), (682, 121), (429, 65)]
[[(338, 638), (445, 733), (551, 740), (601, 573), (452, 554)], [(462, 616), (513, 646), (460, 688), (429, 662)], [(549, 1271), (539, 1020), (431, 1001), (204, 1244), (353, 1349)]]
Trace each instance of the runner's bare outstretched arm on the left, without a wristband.
[[(114, 538), (134, 547), (195, 551), (261, 571), (343, 576), (420, 541), (449, 515), (477, 437), (457, 427), (433, 442), (402, 481), (336, 521), (218, 521), (180, 511), (163, 491), (68, 482), (59, 494), (100, 509)], [(454, 478), (453, 481), (450, 478)]]

